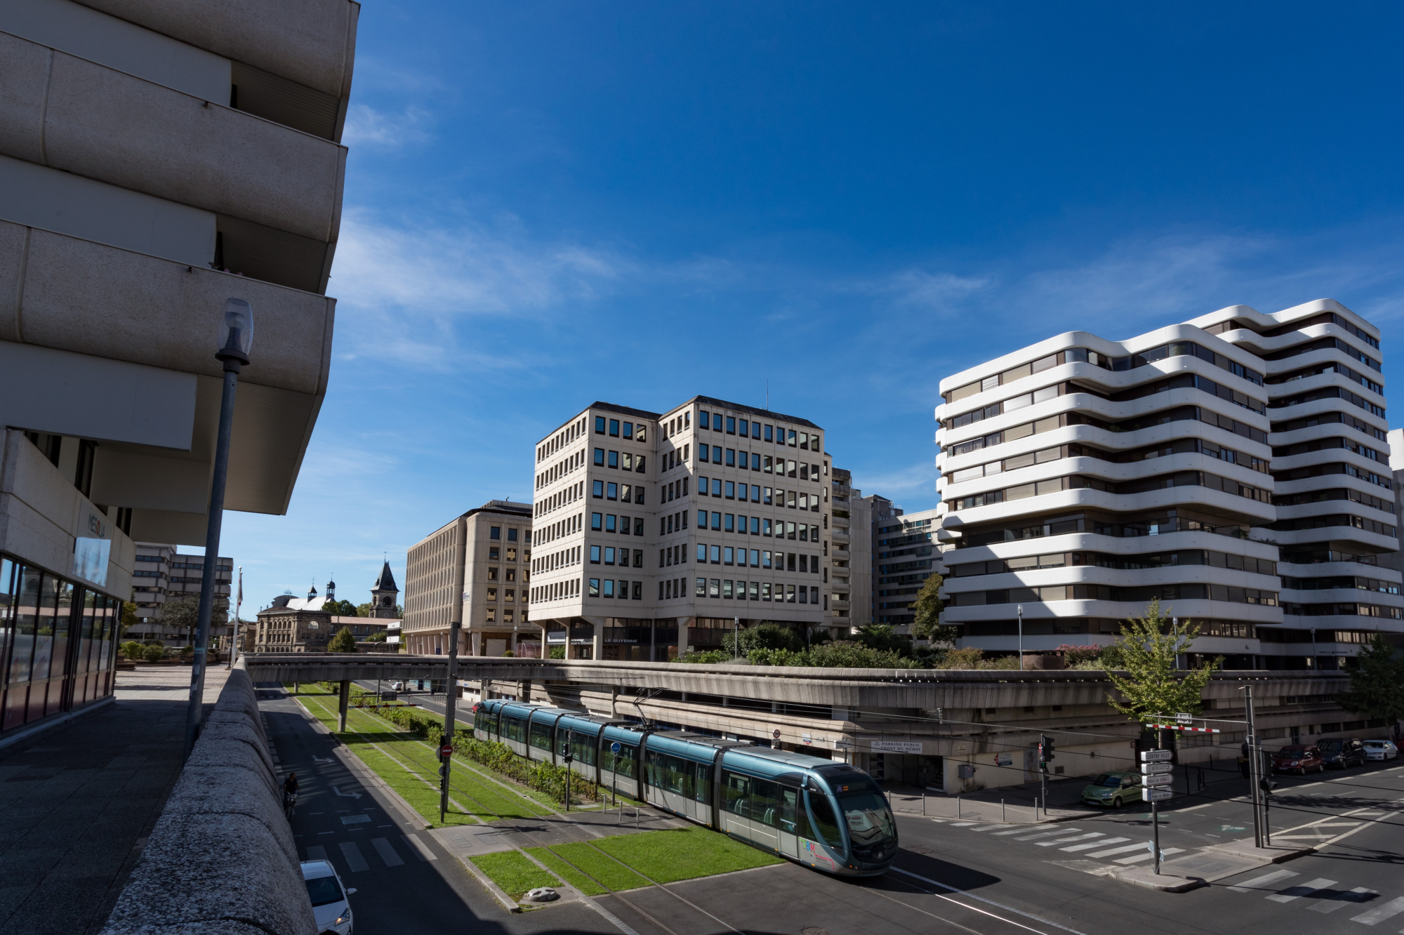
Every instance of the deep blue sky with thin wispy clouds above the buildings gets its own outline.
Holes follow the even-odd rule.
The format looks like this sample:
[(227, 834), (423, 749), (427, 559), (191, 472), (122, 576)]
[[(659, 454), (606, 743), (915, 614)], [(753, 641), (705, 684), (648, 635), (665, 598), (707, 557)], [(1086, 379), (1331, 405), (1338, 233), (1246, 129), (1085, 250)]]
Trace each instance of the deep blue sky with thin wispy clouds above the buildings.
[[(936, 501), (936, 383), (1233, 303), (1404, 316), (1390, 4), (386, 3), (361, 13), (333, 373), (246, 609), (366, 599), (595, 399), (827, 430)], [(256, 348), (257, 350), (257, 348)], [(1386, 368), (1387, 383), (1396, 368)]]

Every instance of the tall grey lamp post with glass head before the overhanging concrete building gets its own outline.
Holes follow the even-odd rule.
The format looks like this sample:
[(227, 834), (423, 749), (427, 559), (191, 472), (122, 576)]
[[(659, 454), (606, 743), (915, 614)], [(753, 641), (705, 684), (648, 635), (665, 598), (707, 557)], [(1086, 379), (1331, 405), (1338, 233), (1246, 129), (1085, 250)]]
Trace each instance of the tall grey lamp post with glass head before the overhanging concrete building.
[(209, 646), (209, 618), (215, 608), (215, 566), (219, 562), (219, 528), (225, 517), (225, 480), (229, 475), (229, 437), (234, 428), (234, 389), (239, 371), (249, 364), (254, 343), (254, 310), (243, 299), (225, 299), (219, 319), (215, 358), (225, 365), (225, 389), (219, 400), (219, 435), (215, 442), (215, 473), (209, 482), (209, 525), (205, 528), (205, 567), (199, 580), (199, 623), (195, 628), (195, 661), (190, 671), (190, 705), (185, 710), (185, 752), (195, 747), (205, 720), (205, 650)]

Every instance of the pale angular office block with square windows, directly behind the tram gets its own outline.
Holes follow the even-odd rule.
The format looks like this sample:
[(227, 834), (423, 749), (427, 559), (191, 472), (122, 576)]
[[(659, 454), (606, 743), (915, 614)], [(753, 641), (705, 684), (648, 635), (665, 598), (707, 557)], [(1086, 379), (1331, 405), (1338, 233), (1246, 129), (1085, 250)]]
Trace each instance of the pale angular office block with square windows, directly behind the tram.
[(592, 403), (535, 455), (531, 621), (570, 657), (667, 660), (734, 626), (828, 625), (814, 423), (695, 396)]

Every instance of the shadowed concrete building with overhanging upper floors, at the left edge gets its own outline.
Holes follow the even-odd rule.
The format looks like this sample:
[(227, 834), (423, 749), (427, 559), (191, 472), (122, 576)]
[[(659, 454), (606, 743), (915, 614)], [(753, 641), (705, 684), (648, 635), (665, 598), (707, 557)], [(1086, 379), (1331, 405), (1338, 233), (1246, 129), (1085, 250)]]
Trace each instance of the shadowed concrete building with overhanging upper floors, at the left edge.
[(132, 594), (133, 538), (204, 542), (229, 298), (257, 340), (225, 505), (286, 510), (327, 383), (358, 11), (0, 7), (4, 731), (110, 691), (93, 619)]

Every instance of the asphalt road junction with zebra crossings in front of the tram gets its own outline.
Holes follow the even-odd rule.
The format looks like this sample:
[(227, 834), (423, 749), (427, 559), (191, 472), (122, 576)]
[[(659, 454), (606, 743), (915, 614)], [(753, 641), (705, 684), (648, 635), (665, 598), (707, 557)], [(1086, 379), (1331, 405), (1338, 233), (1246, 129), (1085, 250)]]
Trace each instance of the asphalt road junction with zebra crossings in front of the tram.
[[(442, 699), (409, 698), (435, 713)], [(600, 903), (625, 935), (1404, 932), (1404, 760), (1276, 779), (1273, 842), (1317, 852), (1189, 893), (1106, 876), (1150, 863), (1148, 806), (1136, 804), (1038, 827), (899, 814), (901, 855), (880, 879), (842, 880), (786, 863)], [(1230, 778), (1163, 807), (1167, 856), (1251, 841), (1245, 792), (1245, 781)], [(552, 931), (564, 924), (556, 918), (543, 920)]]

